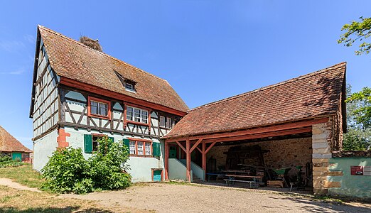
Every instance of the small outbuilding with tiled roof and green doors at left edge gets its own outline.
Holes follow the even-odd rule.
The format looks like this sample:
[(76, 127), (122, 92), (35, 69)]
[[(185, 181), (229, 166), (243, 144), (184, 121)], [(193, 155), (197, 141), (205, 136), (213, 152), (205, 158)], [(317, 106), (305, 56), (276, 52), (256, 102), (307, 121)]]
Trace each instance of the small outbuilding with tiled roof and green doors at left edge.
[(30, 160), (32, 151), (23, 146), (14, 136), (11, 136), (2, 126), (0, 126), (0, 154), (9, 155), (13, 160), (19, 159), (22, 161)]

